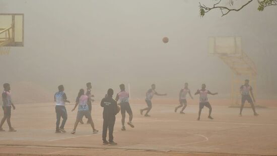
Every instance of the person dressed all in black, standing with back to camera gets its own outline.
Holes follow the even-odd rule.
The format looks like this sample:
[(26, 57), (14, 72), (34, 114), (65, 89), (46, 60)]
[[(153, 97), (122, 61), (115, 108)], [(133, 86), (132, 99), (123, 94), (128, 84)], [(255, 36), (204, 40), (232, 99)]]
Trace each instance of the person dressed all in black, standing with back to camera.
[[(113, 89), (108, 89), (107, 96), (102, 99), (101, 107), (104, 108), (103, 111), (103, 132), (102, 139), (104, 145), (117, 145), (117, 143), (113, 142), (113, 127), (115, 123), (115, 115), (118, 113), (117, 111), (117, 103), (116, 100), (112, 98)], [(109, 129), (109, 142), (106, 140), (107, 130)]]

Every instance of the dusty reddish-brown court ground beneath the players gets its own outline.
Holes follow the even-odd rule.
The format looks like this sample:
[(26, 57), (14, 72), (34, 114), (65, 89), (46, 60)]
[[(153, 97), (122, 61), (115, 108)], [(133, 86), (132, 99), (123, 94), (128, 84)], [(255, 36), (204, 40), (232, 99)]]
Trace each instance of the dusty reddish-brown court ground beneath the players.
[[(212, 103), (213, 104), (213, 103)], [(10, 154), (71, 154), (71, 155), (274, 155), (277, 154), (277, 108), (244, 109), (213, 106), (214, 120), (207, 119), (204, 108), (196, 121), (198, 107), (188, 105), (185, 114), (174, 113), (175, 105), (154, 103), (151, 117), (139, 110), (146, 105), (131, 104), (135, 128), (126, 125), (121, 131), (121, 115), (115, 123), (117, 146), (102, 145), (102, 108), (93, 105), (93, 120), (99, 134), (92, 134), (90, 125), (79, 124), (77, 133), (70, 134), (77, 112), (66, 106), (66, 133), (54, 133), (53, 103), (17, 105), (12, 112), (12, 124), (17, 132), (0, 133), (0, 155)], [(3, 116), (1, 112), (1, 116)], [(126, 118), (127, 121), (127, 118)], [(8, 130), (5, 123), (4, 129)]]

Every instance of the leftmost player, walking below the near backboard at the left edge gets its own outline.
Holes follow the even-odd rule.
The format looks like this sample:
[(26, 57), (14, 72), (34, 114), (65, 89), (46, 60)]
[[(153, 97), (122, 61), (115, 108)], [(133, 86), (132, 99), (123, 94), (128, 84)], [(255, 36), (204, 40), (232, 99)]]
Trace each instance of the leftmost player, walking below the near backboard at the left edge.
[(12, 102), (12, 94), (11, 94), (11, 86), (9, 83), (5, 83), (4, 85), (4, 91), (2, 93), (2, 101), (3, 101), (3, 110), (4, 110), (4, 117), (1, 120), (0, 123), (0, 132), (5, 131), (2, 126), (5, 123), (5, 121), (7, 120), (7, 123), (9, 125), (9, 132), (16, 132), (16, 130), (12, 127), (11, 124), (11, 112), (12, 112), (12, 107), (15, 110), (16, 107), (14, 105), (14, 103)]

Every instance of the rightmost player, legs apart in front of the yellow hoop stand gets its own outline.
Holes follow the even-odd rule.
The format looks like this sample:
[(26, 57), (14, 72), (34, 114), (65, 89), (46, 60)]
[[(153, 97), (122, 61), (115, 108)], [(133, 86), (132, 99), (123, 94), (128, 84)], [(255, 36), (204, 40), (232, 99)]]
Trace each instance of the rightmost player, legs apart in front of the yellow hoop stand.
[[(254, 112), (254, 116), (258, 116), (258, 114), (256, 113), (256, 110), (255, 110), (255, 106), (254, 106), (255, 98), (254, 98), (252, 90), (253, 90), (252, 87), (249, 85), (249, 80), (245, 80), (244, 85), (242, 85), (240, 87), (240, 93), (241, 93), (240, 116), (242, 116), (241, 112), (242, 112), (242, 109), (244, 107), (244, 103), (246, 100), (250, 103), (252, 110)], [(251, 94), (254, 102), (252, 101), (250, 94)]]

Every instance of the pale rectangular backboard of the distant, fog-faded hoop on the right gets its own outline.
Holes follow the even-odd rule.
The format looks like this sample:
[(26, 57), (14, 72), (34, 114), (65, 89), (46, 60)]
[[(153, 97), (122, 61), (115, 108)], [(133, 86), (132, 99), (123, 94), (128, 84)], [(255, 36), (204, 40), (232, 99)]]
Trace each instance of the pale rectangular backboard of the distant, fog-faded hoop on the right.
[(240, 36), (209, 37), (210, 55), (241, 54), (241, 51)]

